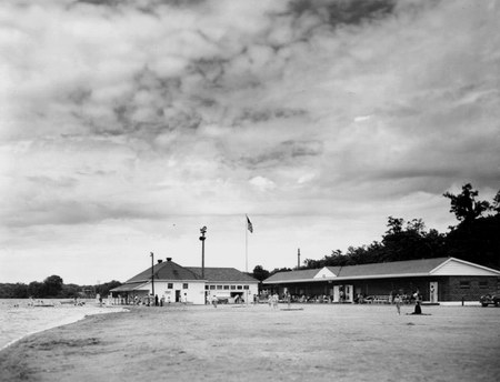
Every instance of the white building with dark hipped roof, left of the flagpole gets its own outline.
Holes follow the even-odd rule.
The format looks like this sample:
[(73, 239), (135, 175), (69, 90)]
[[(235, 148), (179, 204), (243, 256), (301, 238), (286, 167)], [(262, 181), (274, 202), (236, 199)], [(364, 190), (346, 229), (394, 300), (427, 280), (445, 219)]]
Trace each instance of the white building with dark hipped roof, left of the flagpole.
[[(124, 284), (111, 290), (121, 302), (134, 303), (157, 299), (158, 304), (187, 302), (204, 304), (217, 296), (221, 302), (251, 302), (258, 294), (259, 281), (234, 268), (184, 268), (159, 260), (153, 269), (137, 274)], [(154, 292), (153, 292), (154, 290)]]

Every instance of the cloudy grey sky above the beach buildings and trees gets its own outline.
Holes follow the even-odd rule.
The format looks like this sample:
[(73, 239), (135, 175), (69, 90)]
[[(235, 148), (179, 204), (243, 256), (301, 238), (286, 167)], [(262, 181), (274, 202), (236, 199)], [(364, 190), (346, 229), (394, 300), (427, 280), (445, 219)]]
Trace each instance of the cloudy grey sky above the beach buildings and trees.
[[(500, 1), (0, 3), (0, 282), (252, 271), (500, 189)], [(253, 225), (247, 230), (246, 214)]]

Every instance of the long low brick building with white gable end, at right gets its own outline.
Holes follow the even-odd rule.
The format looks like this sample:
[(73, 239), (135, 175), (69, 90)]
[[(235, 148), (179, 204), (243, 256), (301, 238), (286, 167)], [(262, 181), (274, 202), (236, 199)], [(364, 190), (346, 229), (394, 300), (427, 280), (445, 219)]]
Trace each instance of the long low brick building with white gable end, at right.
[(262, 282), (269, 292), (290, 293), (332, 302), (354, 302), (361, 296), (390, 301), (416, 291), (428, 303), (478, 302), (480, 295), (500, 291), (500, 271), (456, 258), (396, 261), (279, 272)]

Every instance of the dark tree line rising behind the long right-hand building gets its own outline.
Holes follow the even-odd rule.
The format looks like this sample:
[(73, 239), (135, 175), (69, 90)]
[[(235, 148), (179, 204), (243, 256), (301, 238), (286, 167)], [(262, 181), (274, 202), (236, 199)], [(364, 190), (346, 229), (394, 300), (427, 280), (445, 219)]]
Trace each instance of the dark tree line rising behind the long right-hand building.
[[(460, 193), (446, 192), (443, 197), (450, 200), (450, 212), (458, 220), (457, 225), (449, 227), (448, 233), (427, 230), (422, 219), (404, 221), (389, 217), (381, 241), (349, 247), (346, 253), (333, 250), (319, 260), (306, 259), (299, 269), (453, 257), (500, 270), (500, 190), (491, 202), (479, 200), (479, 192), (470, 183), (464, 184)], [(253, 277), (264, 280), (282, 271), (291, 269), (269, 272), (257, 265)]]

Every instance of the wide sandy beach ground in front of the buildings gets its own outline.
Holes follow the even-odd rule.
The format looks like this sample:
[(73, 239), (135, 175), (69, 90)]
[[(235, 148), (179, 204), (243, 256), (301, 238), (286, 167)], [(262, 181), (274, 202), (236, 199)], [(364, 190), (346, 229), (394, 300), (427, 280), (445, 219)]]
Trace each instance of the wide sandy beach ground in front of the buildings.
[(500, 309), (132, 308), (0, 352), (1, 381), (498, 381)]

